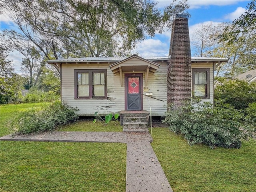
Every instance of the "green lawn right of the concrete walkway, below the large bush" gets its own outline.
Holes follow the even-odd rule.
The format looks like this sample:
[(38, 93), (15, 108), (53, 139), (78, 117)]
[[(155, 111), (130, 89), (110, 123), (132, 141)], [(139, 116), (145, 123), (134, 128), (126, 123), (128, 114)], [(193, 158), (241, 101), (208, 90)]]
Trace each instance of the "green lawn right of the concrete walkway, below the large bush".
[(152, 147), (174, 192), (252, 192), (256, 188), (256, 140), (240, 149), (189, 146), (168, 128), (154, 128)]

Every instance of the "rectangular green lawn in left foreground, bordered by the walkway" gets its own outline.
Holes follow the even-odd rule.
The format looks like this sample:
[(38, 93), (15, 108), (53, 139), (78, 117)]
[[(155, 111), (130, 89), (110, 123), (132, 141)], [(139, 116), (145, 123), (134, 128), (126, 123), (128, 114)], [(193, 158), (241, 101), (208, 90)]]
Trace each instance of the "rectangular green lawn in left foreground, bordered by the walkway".
[(1, 141), (3, 192), (125, 192), (126, 144)]

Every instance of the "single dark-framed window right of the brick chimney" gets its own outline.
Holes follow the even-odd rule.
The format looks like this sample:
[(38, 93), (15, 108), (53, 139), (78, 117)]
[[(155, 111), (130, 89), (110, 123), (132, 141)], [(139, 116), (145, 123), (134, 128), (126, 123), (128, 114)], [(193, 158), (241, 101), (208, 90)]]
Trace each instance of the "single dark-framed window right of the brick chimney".
[(193, 96), (210, 98), (209, 68), (192, 69)]

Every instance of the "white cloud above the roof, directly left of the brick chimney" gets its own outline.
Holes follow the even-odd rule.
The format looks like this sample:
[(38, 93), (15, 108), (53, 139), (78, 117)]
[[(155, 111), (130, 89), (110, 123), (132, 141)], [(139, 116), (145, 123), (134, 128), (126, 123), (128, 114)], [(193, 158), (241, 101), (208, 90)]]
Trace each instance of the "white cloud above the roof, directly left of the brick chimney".
[(168, 56), (169, 44), (158, 39), (146, 39), (137, 44), (134, 52), (140, 56)]

